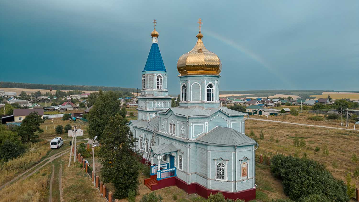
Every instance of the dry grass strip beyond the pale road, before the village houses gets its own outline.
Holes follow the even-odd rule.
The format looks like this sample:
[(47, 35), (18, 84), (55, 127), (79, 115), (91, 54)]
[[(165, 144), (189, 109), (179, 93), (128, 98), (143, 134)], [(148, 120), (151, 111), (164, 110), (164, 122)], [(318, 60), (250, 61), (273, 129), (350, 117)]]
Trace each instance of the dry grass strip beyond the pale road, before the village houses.
[[(282, 108), (290, 108), (291, 106), (284, 106)], [(297, 107), (297, 106), (295, 106)], [(326, 119), (325, 121), (312, 121), (309, 120), (308, 118), (310, 116), (315, 116), (316, 114), (313, 113), (308, 113), (308, 112), (303, 112), (303, 113), (299, 113), (298, 116), (292, 116), (290, 114), (288, 115), (282, 115), (282, 116), (268, 116), (268, 118), (266, 118), (266, 116), (264, 115), (253, 115), (250, 116), (251, 118), (261, 118), (261, 119), (269, 119), (269, 120), (275, 120), (275, 121), (285, 121), (285, 122), (292, 122), (292, 123), (303, 123), (303, 124), (309, 124), (309, 125), (320, 125), (320, 126), (330, 126), (330, 127), (337, 127), (337, 128), (346, 128), (345, 126), (340, 126), (340, 118), (339, 119)], [(324, 116), (322, 114), (318, 114), (316, 116)], [(343, 122), (345, 122), (345, 116), (343, 116)], [(349, 128), (353, 129), (354, 128), (354, 119), (350, 119), (349, 122)], [(351, 124), (350, 124), (351, 123)], [(359, 131), (358, 133), (359, 134)]]

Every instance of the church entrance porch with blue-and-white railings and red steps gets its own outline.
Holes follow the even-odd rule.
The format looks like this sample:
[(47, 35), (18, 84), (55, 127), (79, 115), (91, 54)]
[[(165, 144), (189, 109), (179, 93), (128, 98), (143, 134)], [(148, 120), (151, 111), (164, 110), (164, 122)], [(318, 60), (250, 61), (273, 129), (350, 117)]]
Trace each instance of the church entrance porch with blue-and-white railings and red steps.
[[(144, 180), (145, 185), (151, 191), (175, 185), (177, 151), (178, 149), (172, 143), (151, 146), (149, 151), (151, 152), (151, 177)], [(157, 156), (158, 160), (157, 165), (154, 162), (155, 156)], [(165, 163), (161, 163), (161, 160)]]

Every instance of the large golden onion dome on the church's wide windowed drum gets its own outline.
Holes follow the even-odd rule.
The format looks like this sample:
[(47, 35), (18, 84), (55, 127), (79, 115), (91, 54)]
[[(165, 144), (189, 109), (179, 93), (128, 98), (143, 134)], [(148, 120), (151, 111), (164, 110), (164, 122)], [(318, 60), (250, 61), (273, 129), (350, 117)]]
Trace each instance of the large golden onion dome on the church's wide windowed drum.
[(183, 54), (177, 62), (177, 70), (183, 75), (219, 75), (222, 62), (219, 57), (206, 49), (202, 42), (201, 31), (196, 36), (197, 43), (188, 53)]

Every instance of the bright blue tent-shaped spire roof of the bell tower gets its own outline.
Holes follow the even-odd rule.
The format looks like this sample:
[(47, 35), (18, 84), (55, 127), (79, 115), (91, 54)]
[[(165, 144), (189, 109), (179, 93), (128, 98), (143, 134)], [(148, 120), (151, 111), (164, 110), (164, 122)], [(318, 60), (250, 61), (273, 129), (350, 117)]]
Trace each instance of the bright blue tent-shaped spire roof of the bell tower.
[(152, 43), (143, 71), (166, 71), (157, 43)]

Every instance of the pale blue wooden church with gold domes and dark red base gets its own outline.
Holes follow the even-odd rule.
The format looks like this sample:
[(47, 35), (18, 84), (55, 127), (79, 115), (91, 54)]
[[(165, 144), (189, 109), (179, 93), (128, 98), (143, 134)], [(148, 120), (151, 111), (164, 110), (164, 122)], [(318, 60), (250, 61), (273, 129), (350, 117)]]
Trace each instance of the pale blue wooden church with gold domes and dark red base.
[(250, 201), (256, 196), (258, 143), (244, 135), (246, 114), (220, 107), (222, 63), (204, 46), (201, 19), (199, 23), (195, 47), (177, 62), (179, 107), (171, 106), (159, 34), (156, 29), (151, 33), (137, 97), (139, 115), (129, 123), (143, 161), (151, 164), (151, 177), (144, 183), (151, 190), (176, 185), (205, 198), (222, 192), (226, 198)]

